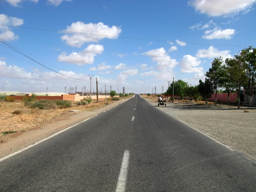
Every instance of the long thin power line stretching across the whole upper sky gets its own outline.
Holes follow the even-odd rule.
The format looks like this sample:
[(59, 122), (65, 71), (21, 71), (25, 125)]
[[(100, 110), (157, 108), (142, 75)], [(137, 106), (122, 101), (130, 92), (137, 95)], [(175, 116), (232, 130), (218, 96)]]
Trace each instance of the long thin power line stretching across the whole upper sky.
[[(0, 24), (2, 25), (2, 24)], [(108, 36), (108, 35), (101, 35), (101, 34), (93, 34), (93, 33), (80, 33), (80, 32), (70, 32), (70, 31), (59, 31), (59, 30), (52, 30), (52, 29), (39, 29), (33, 27), (18, 27), (12, 25), (2, 25), (6, 27), (16, 27), (22, 29), (33, 29), (33, 30), (41, 30), (41, 31), (52, 31), (52, 32), (61, 32), (61, 33), (75, 33), (75, 34), (84, 34), (84, 35), (94, 35), (94, 36), (104, 36), (104, 37), (114, 37), (114, 38), (125, 38), (125, 39), (135, 39), (135, 40), (149, 40), (149, 41), (159, 41), (159, 42), (166, 42), (167, 40), (157, 40), (157, 39), (144, 39), (144, 38), (134, 38), (134, 37), (124, 37), (124, 36)], [(242, 45), (218, 45), (218, 44), (207, 44), (207, 43), (194, 43), (194, 42), (185, 42), (186, 44), (191, 45), (214, 45), (214, 46), (228, 46), (228, 47), (248, 47)]]

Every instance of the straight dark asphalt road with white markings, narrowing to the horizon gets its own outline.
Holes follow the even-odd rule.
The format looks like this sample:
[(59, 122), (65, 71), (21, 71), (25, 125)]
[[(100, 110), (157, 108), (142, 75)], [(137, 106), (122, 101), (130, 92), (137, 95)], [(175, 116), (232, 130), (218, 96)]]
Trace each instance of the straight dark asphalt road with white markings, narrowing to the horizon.
[(256, 191), (256, 164), (136, 95), (0, 161), (0, 191)]

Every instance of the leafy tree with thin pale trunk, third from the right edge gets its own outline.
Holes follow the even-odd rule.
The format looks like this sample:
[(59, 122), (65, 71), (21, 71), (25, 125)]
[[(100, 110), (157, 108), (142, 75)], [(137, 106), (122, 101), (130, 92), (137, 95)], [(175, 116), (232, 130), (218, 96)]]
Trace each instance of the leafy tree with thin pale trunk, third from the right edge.
[(222, 57), (215, 58), (211, 63), (211, 68), (205, 73), (205, 76), (213, 83), (215, 90), (215, 106), (217, 104), (217, 88), (222, 87), (225, 81), (225, 65), (222, 65)]

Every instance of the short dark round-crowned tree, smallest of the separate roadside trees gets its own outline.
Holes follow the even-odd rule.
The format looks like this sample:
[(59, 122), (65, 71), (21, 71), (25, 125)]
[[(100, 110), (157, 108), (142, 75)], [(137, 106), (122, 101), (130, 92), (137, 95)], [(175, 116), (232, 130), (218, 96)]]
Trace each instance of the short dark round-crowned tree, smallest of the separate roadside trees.
[(214, 93), (214, 86), (211, 80), (205, 78), (205, 82), (202, 82), (202, 80), (200, 79), (198, 85), (198, 92), (204, 98), (205, 105), (207, 105), (207, 99), (211, 98), (211, 95)]

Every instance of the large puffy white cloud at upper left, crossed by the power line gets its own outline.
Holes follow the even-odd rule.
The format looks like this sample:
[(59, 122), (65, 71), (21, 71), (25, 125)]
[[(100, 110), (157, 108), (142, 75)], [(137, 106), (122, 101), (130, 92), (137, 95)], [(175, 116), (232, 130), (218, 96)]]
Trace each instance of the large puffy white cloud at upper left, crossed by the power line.
[(98, 42), (103, 38), (115, 39), (121, 33), (121, 28), (108, 27), (102, 22), (85, 24), (78, 21), (67, 26), (63, 32), (66, 34), (61, 37), (61, 40), (66, 41), (66, 44), (71, 47), (81, 47), (85, 42)]

